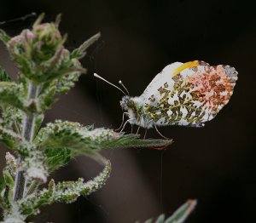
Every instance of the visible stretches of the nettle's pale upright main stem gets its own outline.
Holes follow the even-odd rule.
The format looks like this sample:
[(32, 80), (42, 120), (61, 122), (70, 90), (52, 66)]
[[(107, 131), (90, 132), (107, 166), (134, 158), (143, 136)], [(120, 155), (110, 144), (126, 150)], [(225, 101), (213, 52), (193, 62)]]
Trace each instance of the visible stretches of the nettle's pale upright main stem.
[[(35, 100), (38, 97), (39, 89), (39, 85), (35, 85), (32, 82), (28, 84), (28, 102)], [(36, 118), (37, 115), (35, 113), (24, 113), (22, 136), (28, 142), (32, 142), (33, 140)], [(21, 199), (24, 196), (24, 190), (26, 186), (26, 177), (24, 176), (24, 171), (19, 169), (21, 163), (22, 157), (19, 157), (17, 165), (18, 168), (15, 177), (15, 201)]]

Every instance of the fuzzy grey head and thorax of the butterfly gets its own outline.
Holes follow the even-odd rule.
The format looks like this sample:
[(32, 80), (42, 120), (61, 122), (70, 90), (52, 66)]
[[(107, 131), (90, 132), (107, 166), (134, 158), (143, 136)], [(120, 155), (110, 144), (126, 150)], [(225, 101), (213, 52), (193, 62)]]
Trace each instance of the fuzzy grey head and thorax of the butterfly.
[(152, 126), (151, 118), (145, 113), (145, 103), (140, 97), (125, 95), (120, 100), (120, 105), (129, 117), (129, 123), (137, 124), (143, 128)]

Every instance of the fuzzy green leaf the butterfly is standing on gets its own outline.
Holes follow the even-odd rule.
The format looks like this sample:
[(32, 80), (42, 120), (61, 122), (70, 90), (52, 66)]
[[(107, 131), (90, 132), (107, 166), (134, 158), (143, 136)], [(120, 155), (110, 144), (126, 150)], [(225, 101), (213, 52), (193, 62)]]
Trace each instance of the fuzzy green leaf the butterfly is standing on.
[(35, 143), (41, 150), (67, 148), (73, 156), (84, 154), (102, 161), (97, 154), (102, 149), (150, 147), (163, 149), (172, 140), (141, 140), (137, 134), (119, 134), (112, 129), (92, 129), (79, 123), (62, 122), (49, 123), (40, 129)]

